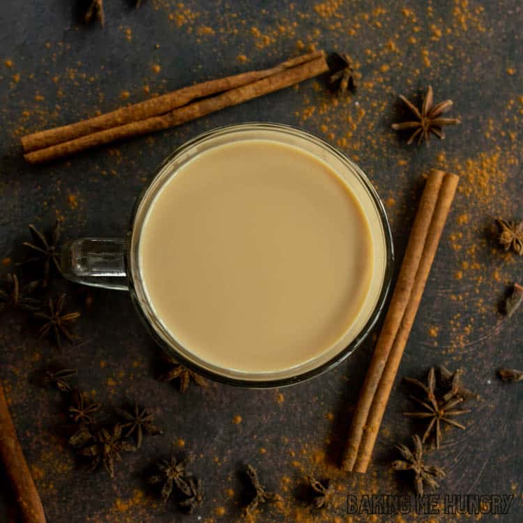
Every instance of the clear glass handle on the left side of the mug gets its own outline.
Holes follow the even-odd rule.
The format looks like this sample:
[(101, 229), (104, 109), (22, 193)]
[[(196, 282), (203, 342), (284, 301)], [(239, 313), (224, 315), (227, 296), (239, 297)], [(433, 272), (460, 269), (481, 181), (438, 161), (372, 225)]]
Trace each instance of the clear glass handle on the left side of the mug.
[(125, 248), (125, 242), (116, 238), (69, 241), (61, 251), (62, 274), (91, 287), (127, 291)]

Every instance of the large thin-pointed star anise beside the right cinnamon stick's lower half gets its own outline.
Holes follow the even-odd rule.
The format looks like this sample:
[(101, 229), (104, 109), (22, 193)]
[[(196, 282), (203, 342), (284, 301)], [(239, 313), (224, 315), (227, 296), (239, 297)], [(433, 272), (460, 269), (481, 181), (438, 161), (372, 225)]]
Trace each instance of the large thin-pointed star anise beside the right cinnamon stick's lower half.
[(411, 400), (418, 403), (423, 407), (423, 411), (418, 412), (404, 412), (404, 416), (410, 418), (430, 418), (430, 423), (423, 434), (422, 442), (425, 443), (430, 437), (432, 431), (435, 433), (436, 448), (439, 448), (439, 442), (441, 441), (441, 423), (448, 423), (454, 425), (462, 430), (465, 430), (465, 426), (457, 421), (453, 420), (453, 416), (460, 416), (460, 414), (467, 414), (469, 410), (456, 410), (454, 407), (463, 401), (462, 397), (452, 395), (448, 400), (439, 400), (436, 397), (436, 373), (434, 367), (429, 371), (427, 385), (421, 383), (417, 379), (405, 378), (411, 384), (414, 384), (421, 388), (426, 395), (426, 400), (420, 400), (416, 396), (409, 396)]

